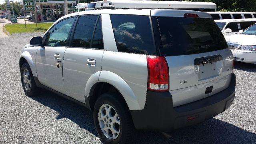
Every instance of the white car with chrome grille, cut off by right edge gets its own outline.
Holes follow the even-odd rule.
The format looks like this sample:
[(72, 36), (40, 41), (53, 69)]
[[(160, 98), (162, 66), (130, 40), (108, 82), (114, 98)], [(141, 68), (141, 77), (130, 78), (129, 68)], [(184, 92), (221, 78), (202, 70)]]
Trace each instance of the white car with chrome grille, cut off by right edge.
[(256, 64), (256, 24), (240, 34), (225, 37), (234, 60)]

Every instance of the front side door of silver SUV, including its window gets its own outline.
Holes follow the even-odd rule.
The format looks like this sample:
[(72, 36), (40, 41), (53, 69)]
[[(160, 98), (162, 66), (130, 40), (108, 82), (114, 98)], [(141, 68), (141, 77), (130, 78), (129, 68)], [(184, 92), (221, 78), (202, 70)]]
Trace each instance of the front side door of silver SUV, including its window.
[(62, 66), (64, 52), (76, 17), (58, 22), (46, 34), (45, 46), (36, 53), (36, 72), (44, 86), (63, 93)]

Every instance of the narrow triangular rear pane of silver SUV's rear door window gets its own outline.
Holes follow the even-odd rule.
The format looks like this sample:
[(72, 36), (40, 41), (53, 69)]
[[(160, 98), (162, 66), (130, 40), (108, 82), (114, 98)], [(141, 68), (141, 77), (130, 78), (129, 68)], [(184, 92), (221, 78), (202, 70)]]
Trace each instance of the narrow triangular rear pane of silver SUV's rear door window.
[(95, 28), (91, 48), (104, 49), (100, 18), (98, 19), (98, 22), (97, 22), (97, 25), (96, 25), (96, 28)]

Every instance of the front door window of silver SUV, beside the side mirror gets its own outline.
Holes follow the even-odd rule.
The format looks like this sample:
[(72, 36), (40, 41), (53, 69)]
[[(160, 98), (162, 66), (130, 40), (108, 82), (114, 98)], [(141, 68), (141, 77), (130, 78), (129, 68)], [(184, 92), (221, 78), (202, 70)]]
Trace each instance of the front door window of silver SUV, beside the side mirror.
[(46, 36), (46, 46), (65, 46), (75, 17), (58, 22)]

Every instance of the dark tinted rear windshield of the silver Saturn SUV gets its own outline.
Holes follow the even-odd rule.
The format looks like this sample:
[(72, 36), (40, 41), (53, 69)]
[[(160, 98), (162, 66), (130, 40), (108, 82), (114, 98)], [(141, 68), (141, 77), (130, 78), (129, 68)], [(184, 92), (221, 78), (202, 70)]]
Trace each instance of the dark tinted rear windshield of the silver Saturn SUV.
[(212, 18), (157, 17), (162, 56), (212, 52), (228, 48)]

